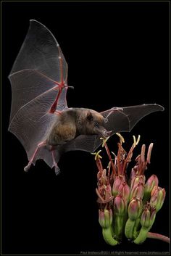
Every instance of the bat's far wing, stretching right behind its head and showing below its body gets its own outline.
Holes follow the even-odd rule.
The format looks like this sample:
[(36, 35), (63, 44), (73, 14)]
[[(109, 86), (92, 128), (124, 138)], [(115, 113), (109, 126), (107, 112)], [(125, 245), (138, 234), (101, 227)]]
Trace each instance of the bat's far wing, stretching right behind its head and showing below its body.
[[(104, 128), (107, 131), (119, 133), (122, 131), (131, 131), (132, 128), (146, 115), (152, 112), (162, 111), (164, 107), (158, 104), (141, 104), (131, 107), (113, 107), (110, 110), (101, 112), (104, 116)], [(74, 141), (70, 141), (65, 147), (65, 152), (70, 150), (83, 150), (87, 152), (94, 152), (101, 145), (102, 141), (99, 136), (78, 136)]]

